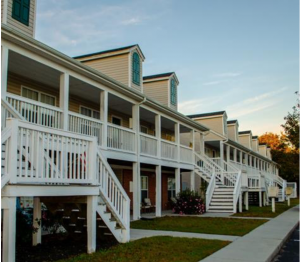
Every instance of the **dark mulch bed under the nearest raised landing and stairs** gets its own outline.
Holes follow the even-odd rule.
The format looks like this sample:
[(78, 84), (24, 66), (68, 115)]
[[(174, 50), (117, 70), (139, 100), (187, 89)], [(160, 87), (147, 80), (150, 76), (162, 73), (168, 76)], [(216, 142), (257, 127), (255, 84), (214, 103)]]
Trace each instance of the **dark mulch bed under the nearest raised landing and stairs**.
[[(97, 250), (107, 249), (118, 243), (114, 239), (97, 240)], [(31, 243), (16, 245), (16, 262), (50, 262), (70, 258), (87, 251), (87, 239), (46, 235), (42, 244), (33, 247)]]

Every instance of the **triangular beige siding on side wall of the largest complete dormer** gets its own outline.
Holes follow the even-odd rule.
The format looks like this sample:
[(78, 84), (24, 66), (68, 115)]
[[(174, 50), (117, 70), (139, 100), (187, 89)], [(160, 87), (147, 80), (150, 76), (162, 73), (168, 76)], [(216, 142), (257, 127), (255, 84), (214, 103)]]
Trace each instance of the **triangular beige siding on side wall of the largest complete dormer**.
[(122, 54), (82, 62), (101, 73), (129, 85), (129, 54)]

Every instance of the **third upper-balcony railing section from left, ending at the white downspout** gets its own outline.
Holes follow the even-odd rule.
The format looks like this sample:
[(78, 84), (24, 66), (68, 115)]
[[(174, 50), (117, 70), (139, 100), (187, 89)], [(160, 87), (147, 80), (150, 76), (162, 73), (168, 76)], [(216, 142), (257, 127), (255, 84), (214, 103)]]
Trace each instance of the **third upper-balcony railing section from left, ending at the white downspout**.
[(108, 124), (107, 147), (125, 152), (135, 152), (135, 132), (129, 128)]

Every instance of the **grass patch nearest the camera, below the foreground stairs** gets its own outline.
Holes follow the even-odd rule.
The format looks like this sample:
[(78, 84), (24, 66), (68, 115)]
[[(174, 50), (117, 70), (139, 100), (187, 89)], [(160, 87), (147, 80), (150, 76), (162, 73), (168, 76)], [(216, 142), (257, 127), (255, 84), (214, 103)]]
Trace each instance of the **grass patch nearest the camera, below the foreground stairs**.
[(196, 262), (229, 243), (219, 240), (159, 236), (143, 238), (91, 255), (82, 254), (59, 262)]

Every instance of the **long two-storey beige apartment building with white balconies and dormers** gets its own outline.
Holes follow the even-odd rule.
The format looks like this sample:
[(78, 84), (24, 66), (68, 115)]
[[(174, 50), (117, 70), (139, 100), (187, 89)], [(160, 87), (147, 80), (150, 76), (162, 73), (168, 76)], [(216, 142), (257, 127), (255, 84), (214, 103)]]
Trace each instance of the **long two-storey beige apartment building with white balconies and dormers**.
[(178, 112), (176, 73), (143, 76), (139, 45), (71, 58), (35, 40), (35, 0), (1, 5), (3, 261), (15, 259), (20, 197), (33, 198), (34, 221), (41, 203), (63, 212), (92, 253), (98, 237), (129, 241), (131, 219), (161, 216), (201, 180), (211, 212), (242, 211), (251, 190), (267, 200), (266, 181), (284, 188), (269, 150), (225, 111)]

